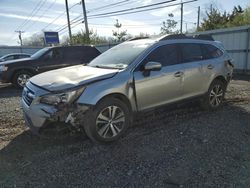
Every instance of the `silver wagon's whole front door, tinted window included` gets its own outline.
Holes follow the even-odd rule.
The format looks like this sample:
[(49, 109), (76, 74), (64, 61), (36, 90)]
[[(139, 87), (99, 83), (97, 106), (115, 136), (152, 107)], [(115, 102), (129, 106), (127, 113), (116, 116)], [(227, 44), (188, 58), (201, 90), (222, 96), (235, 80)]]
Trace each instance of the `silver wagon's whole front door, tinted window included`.
[[(184, 68), (179, 64), (176, 44), (166, 44), (154, 49), (134, 72), (135, 90), (139, 110), (156, 107), (182, 98)], [(162, 69), (145, 75), (143, 67), (148, 62), (159, 62)]]

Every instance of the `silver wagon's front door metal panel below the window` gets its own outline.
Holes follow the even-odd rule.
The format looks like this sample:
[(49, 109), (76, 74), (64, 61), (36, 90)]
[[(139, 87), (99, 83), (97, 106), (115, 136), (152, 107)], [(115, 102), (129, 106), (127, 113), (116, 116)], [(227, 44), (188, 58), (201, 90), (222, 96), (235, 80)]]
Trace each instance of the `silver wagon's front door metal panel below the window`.
[(144, 110), (182, 98), (183, 76), (175, 73), (183, 71), (181, 65), (163, 67), (144, 76), (142, 71), (134, 73), (138, 110)]

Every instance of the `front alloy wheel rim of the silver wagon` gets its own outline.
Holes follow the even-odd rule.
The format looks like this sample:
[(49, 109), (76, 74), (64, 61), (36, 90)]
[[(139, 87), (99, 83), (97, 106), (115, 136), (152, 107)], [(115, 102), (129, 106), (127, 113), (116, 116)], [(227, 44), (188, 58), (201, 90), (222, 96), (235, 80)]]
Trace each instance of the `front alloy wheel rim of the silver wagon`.
[(96, 118), (97, 132), (102, 138), (113, 138), (124, 128), (125, 113), (115, 105), (104, 108)]

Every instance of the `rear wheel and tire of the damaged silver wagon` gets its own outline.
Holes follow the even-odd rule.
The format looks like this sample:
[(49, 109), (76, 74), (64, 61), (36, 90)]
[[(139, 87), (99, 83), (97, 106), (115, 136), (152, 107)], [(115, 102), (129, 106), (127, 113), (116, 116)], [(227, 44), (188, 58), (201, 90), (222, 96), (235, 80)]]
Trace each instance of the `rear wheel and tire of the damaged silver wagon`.
[(201, 101), (201, 107), (205, 110), (216, 110), (221, 107), (226, 92), (226, 84), (221, 80), (214, 80), (206, 95)]

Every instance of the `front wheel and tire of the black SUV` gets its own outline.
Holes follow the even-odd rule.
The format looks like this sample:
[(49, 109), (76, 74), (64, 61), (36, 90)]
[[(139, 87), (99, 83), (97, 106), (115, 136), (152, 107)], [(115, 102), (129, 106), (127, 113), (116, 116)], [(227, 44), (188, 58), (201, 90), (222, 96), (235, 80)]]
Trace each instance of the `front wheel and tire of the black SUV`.
[(15, 73), (13, 77), (13, 84), (15, 87), (21, 89), (25, 86), (26, 82), (33, 76), (33, 74), (26, 70), (21, 70)]

